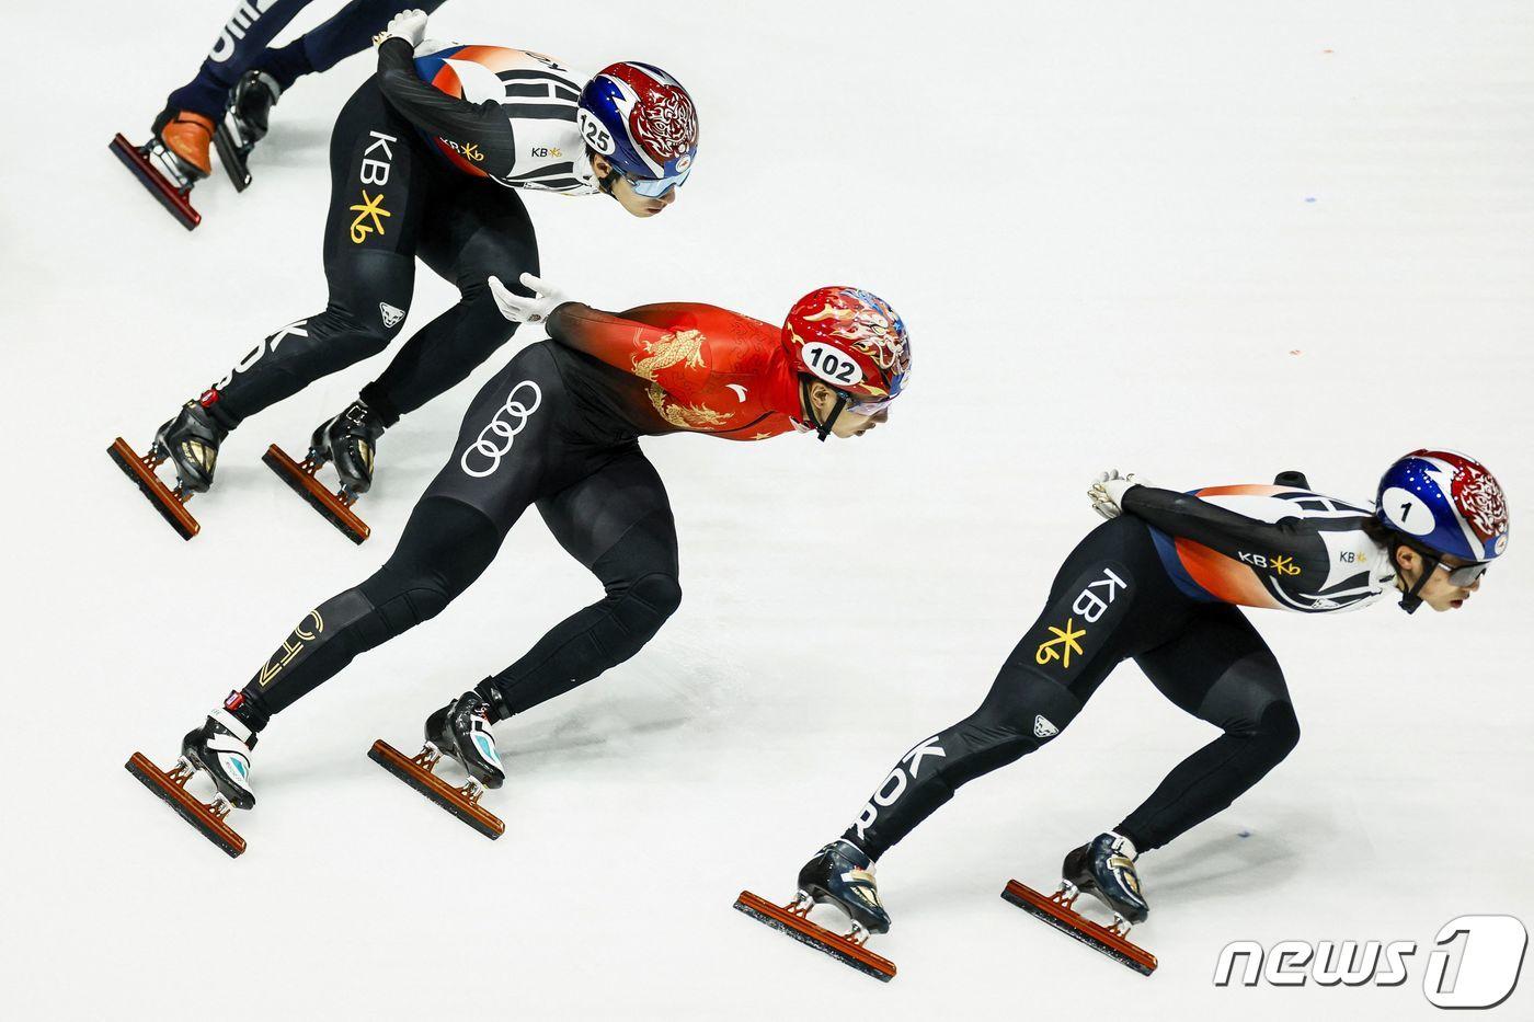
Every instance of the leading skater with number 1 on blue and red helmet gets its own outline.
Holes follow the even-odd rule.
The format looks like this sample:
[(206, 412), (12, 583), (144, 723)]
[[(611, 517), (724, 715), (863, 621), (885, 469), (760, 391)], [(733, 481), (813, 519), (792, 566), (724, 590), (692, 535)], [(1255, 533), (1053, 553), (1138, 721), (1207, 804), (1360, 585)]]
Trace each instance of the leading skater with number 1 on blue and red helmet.
[[(1089, 496), (1108, 523), (1066, 557), (1043, 614), (980, 707), (896, 761), (847, 832), (804, 865), (792, 905), (747, 893), (742, 910), (870, 968), (859, 945), (890, 927), (874, 861), (959, 786), (1057, 741), (1108, 674), (1132, 658), (1163, 695), (1224, 734), (1121, 823), (1072, 850), (1054, 898), (1016, 881), (1006, 896), (1150, 971), (1155, 959), (1124, 941), (1149, 913), (1137, 856), (1230, 806), (1299, 740), (1284, 674), (1239, 608), (1338, 614), (1399, 595), (1407, 612), (1424, 603), (1451, 611), (1508, 545), (1500, 485), (1485, 465), (1453, 451), (1413, 451), (1394, 462), (1373, 509), (1313, 493), (1298, 473), (1272, 486), (1186, 494), (1104, 473)], [(1114, 925), (1075, 913), (1078, 892), (1106, 902)], [(816, 902), (850, 916), (851, 939), (808, 922)]]

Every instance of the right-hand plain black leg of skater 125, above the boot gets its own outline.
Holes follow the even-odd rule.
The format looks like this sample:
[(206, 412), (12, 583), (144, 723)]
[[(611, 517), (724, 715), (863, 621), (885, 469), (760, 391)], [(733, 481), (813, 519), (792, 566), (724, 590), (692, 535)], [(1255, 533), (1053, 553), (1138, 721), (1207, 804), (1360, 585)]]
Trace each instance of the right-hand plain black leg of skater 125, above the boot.
[(394, 425), (402, 414), (454, 387), (494, 354), (517, 328), (495, 307), (494, 275), (531, 295), (523, 273), (538, 273), (538, 241), (515, 192), (489, 181), (454, 181), (437, 190), (422, 224), (419, 255), (459, 288), (459, 302), (416, 331), (362, 401)]

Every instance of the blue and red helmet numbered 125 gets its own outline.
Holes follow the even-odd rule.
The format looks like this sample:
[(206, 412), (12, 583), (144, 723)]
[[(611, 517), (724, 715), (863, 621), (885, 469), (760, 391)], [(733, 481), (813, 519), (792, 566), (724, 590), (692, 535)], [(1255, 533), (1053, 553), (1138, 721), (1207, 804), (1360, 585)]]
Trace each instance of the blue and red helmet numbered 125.
[(698, 107), (653, 64), (603, 68), (581, 89), (577, 120), (588, 146), (629, 178), (666, 183), (661, 195), (687, 180), (698, 157)]

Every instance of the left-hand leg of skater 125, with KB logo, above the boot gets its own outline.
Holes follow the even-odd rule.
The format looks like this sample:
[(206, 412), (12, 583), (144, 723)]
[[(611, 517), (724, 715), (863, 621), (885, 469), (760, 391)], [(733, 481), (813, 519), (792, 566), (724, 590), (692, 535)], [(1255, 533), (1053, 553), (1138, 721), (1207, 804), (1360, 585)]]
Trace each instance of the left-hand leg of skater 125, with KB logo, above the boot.
[(436, 178), (446, 173), (431, 160), (376, 84), (365, 83), (347, 101), (330, 140), (324, 235), (330, 301), (319, 315), (265, 338), (204, 396), (224, 428), (394, 339), (416, 282), (420, 221)]

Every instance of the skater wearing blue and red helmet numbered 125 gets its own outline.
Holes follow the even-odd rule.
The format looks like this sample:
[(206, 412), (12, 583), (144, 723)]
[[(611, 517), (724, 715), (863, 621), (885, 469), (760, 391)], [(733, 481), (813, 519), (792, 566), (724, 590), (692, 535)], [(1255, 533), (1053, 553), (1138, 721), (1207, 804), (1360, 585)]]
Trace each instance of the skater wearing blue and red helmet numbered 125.
[[(419, 258), (460, 299), (411, 336), (384, 373), (313, 431), (304, 459), (273, 445), (267, 465), (348, 539), (373, 485), (379, 439), (460, 382), (515, 330), (486, 281), (520, 288), (538, 244), (518, 193), (606, 195), (649, 218), (676, 201), (698, 153), (692, 97), (664, 71), (623, 61), (588, 77), (520, 49), (422, 41), (405, 11), (379, 45), (377, 74), (347, 101), (330, 143), (324, 312), (282, 327), (187, 401), (146, 456), (114, 460), (184, 537), (186, 500), (213, 485), (232, 430), (311, 382), (384, 351), (410, 315)], [(175, 490), (155, 474), (170, 460)], [(339, 490), (316, 473), (334, 465)]]

